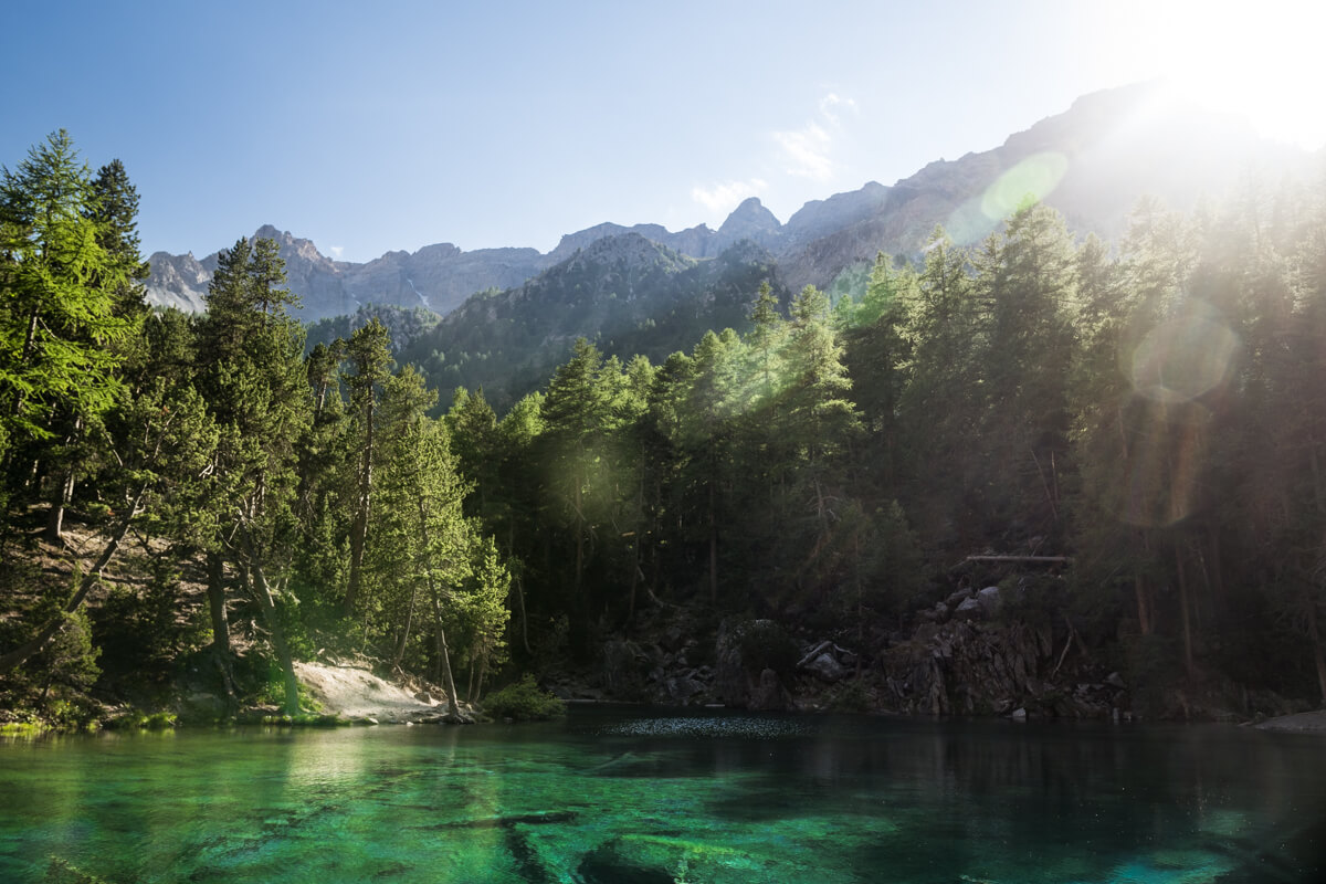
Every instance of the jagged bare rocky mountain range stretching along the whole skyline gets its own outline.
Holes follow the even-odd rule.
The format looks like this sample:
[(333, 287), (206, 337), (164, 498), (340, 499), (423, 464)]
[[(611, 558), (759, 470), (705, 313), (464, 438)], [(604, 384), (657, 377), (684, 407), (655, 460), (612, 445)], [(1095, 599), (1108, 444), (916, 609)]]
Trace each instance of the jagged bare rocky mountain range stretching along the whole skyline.
[[(1306, 160), (1301, 151), (1264, 142), (1235, 119), (1174, 99), (1160, 86), (1138, 85), (1085, 95), (998, 147), (932, 162), (892, 186), (870, 182), (813, 200), (786, 223), (751, 197), (717, 231), (704, 224), (671, 232), (658, 224), (605, 223), (565, 235), (548, 253), (532, 248), (464, 252), (442, 243), (412, 253), (387, 252), (363, 264), (334, 261), (312, 241), (272, 225), (260, 227), (255, 236), (280, 244), (306, 321), (353, 314), (367, 304), (427, 307), (446, 315), (476, 293), (491, 298), (520, 290), (518, 297), (529, 297), (528, 282), (568, 261), (618, 264), (633, 254), (654, 261), (656, 256), (646, 256), (648, 249), (642, 250), (636, 240), (692, 262), (747, 244), (758, 249), (757, 264), (776, 266), (785, 289), (823, 288), (879, 250), (918, 254), (936, 224), (960, 244), (976, 243), (1026, 195), (1057, 208), (1073, 231), (1113, 239), (1143, 195), (1174, 209), (1191, 209), (1203, 195), (1219, 197), (1261, 170), (1270, 170), (1278, 180), (1281, 170)], [(589, 250), (605, 240), (619, 248)], [(152, 254), (149, 300), (202, 310), (216, 258), (216, 253), (202, 260), (192, 253)]]

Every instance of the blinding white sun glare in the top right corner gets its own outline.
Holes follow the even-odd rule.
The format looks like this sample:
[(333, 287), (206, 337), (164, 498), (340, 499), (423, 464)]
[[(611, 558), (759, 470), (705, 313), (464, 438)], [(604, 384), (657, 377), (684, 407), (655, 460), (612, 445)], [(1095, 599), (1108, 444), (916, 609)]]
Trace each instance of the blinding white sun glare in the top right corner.
[(1160, 0), (1123, 3), (1111, 19), (1131, 70), (1248, 119), (1264, 138), (1326, 146), (1326, 4)]

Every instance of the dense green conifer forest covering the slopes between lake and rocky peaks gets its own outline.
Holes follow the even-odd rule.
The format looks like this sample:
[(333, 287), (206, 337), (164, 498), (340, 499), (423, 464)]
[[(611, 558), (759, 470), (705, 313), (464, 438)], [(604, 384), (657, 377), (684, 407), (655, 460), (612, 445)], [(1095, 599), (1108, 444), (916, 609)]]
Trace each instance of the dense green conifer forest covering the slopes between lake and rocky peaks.
[[(717, 697), (739, 632), (751, 676), (793, 688), (825, 639), (853, 649), (839, 697), (914, 709), (890, 660), (987, 583), (996, 649), (1025, 627), (1146, 714), (1326, 700), (1319, 182), (1143, 201), (1118, 243), (1025, 201), (835, 305), (780, 297), (756, 247), (601, 240), (395, 359), (377, 319), (305, 355), (271, 240), (221, 253), (206, 314), (149, 311), (133, 186), (62, 133), (3, 184), (11, 716), (186, 671), (215, 714), (296, 714), (293, 660), (329, 651), (452, 697), (522, 671), (630, 696), (617, 673), (672, 645), (682, 698)], [(691, 294), (659, 304), (672, 277)], [(585, 311), (601, 338), (562, 360)], [(495, 410), (499, 384), (532, 392)]]

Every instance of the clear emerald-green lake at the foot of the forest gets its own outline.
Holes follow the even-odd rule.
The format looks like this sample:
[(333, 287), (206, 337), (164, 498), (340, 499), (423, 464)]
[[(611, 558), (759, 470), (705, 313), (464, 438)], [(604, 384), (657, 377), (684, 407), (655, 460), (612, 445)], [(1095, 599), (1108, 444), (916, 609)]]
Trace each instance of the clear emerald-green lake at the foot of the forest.
[(1326, 736), (573, 709), (0, 741), (0, 881), (1326, 881)]

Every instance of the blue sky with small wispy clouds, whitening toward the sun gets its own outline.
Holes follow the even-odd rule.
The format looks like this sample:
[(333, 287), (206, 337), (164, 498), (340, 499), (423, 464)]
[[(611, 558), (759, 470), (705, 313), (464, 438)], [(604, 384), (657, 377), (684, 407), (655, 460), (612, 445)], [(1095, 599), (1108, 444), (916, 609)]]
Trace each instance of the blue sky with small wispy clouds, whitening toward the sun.
[[(61, 127), (93, 167), (118, 156), (145, 252), (202, 256), (265, 223), (357, 261), (443, 241), (546, 252), (599, 221), (716, 227), (751, 195), (785, 221), (1175, 72), (1270, 66), (1315, 95), (1321, 16), (1276, 0), (9, 0), (0, 163)], [(1265, 105), (1248, 77), (1244, 101)], [(1238, 91), (1221, 82), (1220, 101)]]

